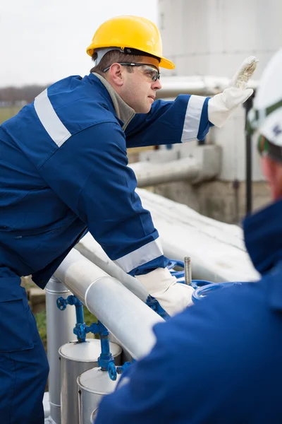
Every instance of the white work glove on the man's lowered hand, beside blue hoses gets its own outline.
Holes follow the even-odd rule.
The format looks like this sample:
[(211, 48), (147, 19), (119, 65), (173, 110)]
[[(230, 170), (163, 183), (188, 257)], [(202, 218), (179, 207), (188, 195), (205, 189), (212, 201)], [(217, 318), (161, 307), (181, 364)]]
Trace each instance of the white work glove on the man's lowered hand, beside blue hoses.
[(177, 283), (176, 277), (171, 276), (167, 268), (157, 268), (136, 278), (168, 315), (177, 314), (192, 304), (194, 289), (190, 285)]

